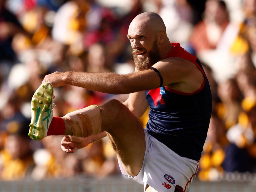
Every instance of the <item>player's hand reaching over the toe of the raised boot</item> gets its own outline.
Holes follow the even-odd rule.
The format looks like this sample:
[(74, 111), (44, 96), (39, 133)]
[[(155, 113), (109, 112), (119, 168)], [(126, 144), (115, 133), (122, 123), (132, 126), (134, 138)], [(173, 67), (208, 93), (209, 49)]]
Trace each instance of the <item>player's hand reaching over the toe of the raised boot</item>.
[(64, 77), (65, 77), (65, 72), (54, 72), (49, 75), (46, 75), (43, 82), (48, 82), (51, 83), (53, 87), (61, 87), (65, 85), (66, 83), (64, 82)]

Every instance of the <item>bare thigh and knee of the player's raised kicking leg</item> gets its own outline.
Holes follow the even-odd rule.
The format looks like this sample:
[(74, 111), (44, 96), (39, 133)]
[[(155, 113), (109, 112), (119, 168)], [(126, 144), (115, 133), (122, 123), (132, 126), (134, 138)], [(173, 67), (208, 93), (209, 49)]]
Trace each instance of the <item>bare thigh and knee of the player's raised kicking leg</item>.
[(143, 165), (145, 155), (144, 128), (133, 113), (117, 100), (100, 107), (102, 129), (119, 156), (127, 174), (136, 176)]

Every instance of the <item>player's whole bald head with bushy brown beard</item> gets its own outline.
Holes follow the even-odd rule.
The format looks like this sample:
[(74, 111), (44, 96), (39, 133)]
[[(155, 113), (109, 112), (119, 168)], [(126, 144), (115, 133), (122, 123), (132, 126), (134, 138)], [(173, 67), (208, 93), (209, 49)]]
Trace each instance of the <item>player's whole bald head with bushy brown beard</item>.
[(133, 59), (137, 70), (149, 69), (170, 49), (163, 19), (154, 12), (137, 15), (131, 22), (127, 37), (133, 48)]

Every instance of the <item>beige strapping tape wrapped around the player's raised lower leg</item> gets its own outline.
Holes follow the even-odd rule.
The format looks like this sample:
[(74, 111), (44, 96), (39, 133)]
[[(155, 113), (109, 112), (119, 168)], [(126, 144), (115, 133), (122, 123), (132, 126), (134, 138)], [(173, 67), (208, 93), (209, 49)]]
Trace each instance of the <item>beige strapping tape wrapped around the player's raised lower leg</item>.
[(88, 137), (101, 131), (101, 113), (98, 105), (73, 111), (63, 118), (70, 124), (74, 136)]

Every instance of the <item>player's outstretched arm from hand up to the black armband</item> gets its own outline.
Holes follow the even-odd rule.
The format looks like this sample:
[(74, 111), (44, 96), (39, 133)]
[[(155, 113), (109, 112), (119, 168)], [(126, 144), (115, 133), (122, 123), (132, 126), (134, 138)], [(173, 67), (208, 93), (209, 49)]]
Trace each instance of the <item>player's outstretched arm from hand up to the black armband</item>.
[[(153, 78), (155, 76), (155, 78)], [(159, 81), (159, 82), (158, 82)], [(159, 86), (160, 80), (153, 70), (120, 75), (111, 72), (54, 72), (46, 75), (43, 82), (54, 87), (70, 84), (110, 94), (127, 94)]]

